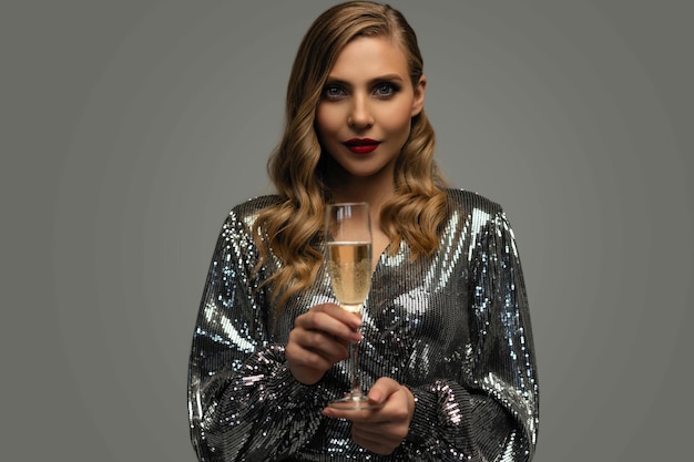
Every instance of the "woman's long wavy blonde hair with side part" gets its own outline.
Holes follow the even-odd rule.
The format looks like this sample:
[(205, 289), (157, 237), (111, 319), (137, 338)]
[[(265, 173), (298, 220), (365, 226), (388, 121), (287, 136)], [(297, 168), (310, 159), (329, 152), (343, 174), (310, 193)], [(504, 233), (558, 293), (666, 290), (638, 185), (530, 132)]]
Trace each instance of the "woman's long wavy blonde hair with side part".
[[(422, 75), (415, 31), (387, 4), (351, 1), (334, 6), (306, 32), (287, 85), (284, 135), (267, 164), (280, 202), (262, 211), (253, 229), (261, 249), (259, 265), (271, 258), (271, 253), (280, 263), (267, 279), (278, 289), (278, 309), (312, 284), (323, 261), (324, 208), (331, 194), (323, 181), (326, 154), (315, 131), (315, 114), (338, 54), (358, 37), (392, 38), (406, 53), (412, 85)], [(446, 183), (433, 148), (433, 129), (422, 110), (412, 117), (409, 138), (396, 161), (395, 198), (380, 212), (382, 229), (391, 240), (390, 254), (402, 240), (414, 258), (430, 255), (439, 246), (439, 228), (447, 213)]]

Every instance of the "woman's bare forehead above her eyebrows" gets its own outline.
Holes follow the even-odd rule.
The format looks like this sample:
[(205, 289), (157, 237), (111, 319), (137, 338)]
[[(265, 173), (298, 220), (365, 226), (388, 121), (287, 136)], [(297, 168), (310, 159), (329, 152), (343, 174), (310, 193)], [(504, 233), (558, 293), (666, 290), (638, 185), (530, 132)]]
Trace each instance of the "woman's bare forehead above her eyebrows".
[(330, 70), (333, 78), (347, 78), (376, 74), (409, 75), (409, 66), (402, 47), (394, 39), (384, 35), (359, 37), (347, 43), (337, 55)]

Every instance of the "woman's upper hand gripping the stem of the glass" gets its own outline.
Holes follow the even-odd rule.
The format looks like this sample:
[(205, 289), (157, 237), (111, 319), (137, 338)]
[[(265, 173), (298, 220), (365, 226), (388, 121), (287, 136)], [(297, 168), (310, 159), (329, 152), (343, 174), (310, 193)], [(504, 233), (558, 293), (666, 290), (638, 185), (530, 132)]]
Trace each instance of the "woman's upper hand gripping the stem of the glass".
[(294, 320), (285, 351), (296, 380), (314, 384), (336, 362), (349, 357), (349, 343), (361, 339), (361, 319), (335, 304), (312, 307)]

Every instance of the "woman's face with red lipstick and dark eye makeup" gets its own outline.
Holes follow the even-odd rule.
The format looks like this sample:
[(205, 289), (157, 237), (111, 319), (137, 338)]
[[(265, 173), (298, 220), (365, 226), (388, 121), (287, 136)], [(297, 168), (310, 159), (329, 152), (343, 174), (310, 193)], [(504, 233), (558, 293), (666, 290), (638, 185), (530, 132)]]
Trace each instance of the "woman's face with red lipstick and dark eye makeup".
[(423, 106), (426, 80), (412, 85), (405, 52), (385, 37), (348, 43), (329, 72), (316, 111), (337, 181), (387, 178)]

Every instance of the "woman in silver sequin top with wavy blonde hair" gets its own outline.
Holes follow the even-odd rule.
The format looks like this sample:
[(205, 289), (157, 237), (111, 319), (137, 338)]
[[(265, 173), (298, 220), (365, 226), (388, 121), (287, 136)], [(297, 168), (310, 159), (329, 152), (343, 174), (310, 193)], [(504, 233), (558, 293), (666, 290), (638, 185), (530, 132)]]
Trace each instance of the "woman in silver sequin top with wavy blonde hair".
[[(214, 250), (188, 372), (201, 461), (529, 461), (538, 382), (528, 301), (501, 208), (448, 188), (423, 111), (415, 32), (388, 6), (324, 12), (297, 52), (277, 194), (236, 206)], [(335, 305), (324, 207), (368, 202), (364, 320)], [(348, 390), (360, 342), (372, 410)]]

